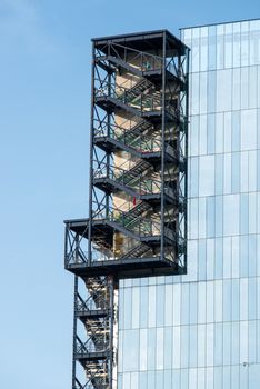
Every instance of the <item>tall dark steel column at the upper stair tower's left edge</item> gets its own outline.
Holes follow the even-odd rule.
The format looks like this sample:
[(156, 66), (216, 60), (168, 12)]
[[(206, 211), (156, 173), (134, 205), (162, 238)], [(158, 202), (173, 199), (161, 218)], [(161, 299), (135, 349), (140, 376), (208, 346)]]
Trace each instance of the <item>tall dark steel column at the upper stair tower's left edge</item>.
[(90, 113), (90, 169), (89, 169), (89, 231), (88, 231), (88, 261), (92, 262), (91, 235), (92, 235), (92, 190), (93, 190), (93, 110), (94, 110), (94, 42), (92, 42), (92, 67), (91, 67), (91, 113)]

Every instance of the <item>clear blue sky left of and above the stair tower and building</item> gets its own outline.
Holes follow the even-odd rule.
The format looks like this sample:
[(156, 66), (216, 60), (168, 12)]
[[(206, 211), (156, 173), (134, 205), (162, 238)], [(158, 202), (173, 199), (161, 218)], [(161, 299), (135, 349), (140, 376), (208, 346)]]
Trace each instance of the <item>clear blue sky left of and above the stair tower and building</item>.
[(229, 0), (0, 0), (0, 387), (71, 386), (62, 220), (87, 216), (91, 37), (258, 18)]

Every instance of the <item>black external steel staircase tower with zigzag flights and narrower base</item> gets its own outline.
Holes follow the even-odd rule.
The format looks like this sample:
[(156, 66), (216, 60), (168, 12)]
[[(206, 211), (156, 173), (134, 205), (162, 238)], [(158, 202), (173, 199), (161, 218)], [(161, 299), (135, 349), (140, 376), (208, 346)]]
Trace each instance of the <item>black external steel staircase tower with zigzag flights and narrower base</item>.
[(93, 39), (90, 211), (66, 221), (72, 389), (117, 388), (119, 278), (186, 272), (188, 67), (167, 30)]

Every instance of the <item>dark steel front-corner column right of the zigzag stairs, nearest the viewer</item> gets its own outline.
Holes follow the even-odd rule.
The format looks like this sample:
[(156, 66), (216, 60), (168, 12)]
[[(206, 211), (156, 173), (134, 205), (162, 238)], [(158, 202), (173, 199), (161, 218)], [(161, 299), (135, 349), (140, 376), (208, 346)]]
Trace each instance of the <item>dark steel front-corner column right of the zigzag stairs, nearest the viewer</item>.
[(161, 118), (161, 259), (164, 257), (164, 158), (166, 158), (166, 31), (162, 38), (162, 118)]

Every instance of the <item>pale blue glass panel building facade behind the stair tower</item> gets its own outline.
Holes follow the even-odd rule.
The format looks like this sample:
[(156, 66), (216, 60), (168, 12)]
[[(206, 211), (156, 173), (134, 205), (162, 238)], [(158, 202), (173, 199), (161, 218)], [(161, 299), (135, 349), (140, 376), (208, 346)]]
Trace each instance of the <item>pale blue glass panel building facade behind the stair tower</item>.
[(188, 273), (120, 281), (119, 389), (260, 387), (260, 20), (190, 47)]

